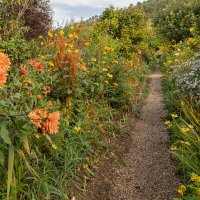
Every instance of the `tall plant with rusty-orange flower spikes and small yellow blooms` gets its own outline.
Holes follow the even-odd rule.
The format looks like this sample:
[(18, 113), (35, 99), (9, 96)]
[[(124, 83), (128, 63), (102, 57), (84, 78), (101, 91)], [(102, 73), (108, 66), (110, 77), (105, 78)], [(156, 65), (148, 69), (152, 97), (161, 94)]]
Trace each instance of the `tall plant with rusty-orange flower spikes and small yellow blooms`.
[(48, 37), (40, 38), (42, 54), (48, 55), (50, 76), (56, 76), (52, 84), (54, 98), (65, 102), (77, 85), (80, 52), (78, 48), (80, 26), (70, 26), (69, 30), (48, 32)]

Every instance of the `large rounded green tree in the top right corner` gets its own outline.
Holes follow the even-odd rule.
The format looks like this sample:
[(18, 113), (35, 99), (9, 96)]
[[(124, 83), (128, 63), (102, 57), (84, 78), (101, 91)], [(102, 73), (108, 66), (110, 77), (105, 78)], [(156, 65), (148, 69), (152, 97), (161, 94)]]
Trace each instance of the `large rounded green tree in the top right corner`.
[(192, 36), (191, 28), (199, 26), (198, 5), (198, 0), (172, 1), (157, 12), (154, 26), (168, 41), (177, 43), (189, 38)]

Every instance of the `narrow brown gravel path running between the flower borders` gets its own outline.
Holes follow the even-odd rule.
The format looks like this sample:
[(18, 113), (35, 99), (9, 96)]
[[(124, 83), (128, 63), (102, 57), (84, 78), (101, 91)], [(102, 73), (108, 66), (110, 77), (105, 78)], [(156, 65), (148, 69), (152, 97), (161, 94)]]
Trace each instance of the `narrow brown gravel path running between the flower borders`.
[(164, 115), (161, 75), (150, 76), (150, 94), (134, 126), (125, 165), (117, 171), (110, 200), (172, 200), (178, 180), (170, 159)]

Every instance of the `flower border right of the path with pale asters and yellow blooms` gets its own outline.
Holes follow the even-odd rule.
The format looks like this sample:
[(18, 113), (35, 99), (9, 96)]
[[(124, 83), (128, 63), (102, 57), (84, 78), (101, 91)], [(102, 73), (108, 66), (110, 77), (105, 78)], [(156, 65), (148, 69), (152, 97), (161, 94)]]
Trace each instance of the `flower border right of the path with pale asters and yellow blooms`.
[[(178, 193), (184, 200), (199, 198), (199, 36), (193, 35), (175, 45), (161, 48), (165, 105), (170, 113), (166, 124), (170, 131), (171, 152), (179, 161), (184, 185)], [(176, 113), (176, 114), (174, 114)]]

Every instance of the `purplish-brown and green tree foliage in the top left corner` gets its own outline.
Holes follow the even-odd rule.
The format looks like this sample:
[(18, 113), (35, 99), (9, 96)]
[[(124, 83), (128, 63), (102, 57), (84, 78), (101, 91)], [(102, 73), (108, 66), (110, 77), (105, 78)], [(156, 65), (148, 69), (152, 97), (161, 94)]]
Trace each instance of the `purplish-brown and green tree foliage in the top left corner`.
[(52, 25), (49, 0), (3, 0), (0, 10), (2, 37), (20, 32), (31, 39), (46, 34)]

